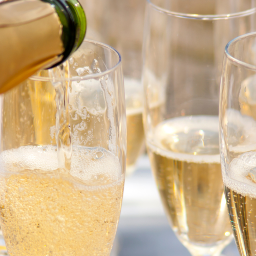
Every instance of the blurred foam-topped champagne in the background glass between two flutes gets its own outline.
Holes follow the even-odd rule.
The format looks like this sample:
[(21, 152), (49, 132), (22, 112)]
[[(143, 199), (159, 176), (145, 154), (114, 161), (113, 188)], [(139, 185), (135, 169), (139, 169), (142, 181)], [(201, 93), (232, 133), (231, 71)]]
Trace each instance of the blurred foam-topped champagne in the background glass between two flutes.
[(135, 170), (138, 157), (144, 149), (144, 130), (142, 121), (143, 92), (141, 82), (135, 79), (124, 78), (126, 103), (126, 175)]

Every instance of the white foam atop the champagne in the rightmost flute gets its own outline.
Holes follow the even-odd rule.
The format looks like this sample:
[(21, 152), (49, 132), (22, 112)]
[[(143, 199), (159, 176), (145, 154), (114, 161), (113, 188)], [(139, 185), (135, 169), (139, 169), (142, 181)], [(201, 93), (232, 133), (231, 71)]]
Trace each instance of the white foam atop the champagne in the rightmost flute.
[[(234, 158), (229, 164), (228, 170), (222, 168), (223, 183), (231, 190), (243, 196), (256, 198), (256, 181), (250, 177), (255, 174), (256, 178), (256, 152), (247, 152)], [(255, 172), (255, 173), (254, 173)]]

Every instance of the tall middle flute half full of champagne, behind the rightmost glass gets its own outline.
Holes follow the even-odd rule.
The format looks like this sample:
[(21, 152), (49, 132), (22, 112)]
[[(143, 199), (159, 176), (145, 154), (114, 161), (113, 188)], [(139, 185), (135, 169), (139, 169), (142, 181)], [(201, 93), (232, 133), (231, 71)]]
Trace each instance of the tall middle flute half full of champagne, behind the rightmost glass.
[[(253, 1), (147, 0), (143, 122), (170, 225), (192, 255), (231, 240), (219, 155), (223, 49), (254, 31)], [(235, 3), (236, 2), (236, 3)]]

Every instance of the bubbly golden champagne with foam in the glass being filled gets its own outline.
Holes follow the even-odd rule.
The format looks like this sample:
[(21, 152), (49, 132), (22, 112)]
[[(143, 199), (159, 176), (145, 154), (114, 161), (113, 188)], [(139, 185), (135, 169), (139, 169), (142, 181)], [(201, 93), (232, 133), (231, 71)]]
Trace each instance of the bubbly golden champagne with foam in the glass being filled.
[(0, 155), (1, 226), (9, 255), (109, 255), (121, 209), (119, 160), (103, 148), (74, 147), (70, 174), (56, 146)]

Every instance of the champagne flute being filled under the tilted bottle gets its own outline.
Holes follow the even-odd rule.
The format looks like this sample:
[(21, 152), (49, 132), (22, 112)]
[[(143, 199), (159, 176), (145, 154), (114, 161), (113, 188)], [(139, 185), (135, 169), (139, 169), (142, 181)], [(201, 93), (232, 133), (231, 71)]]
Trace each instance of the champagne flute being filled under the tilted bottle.
[(126, 152), (121, 57), (85, 40), (1, 96), (0, 222), (9, 255), (110, 254)]

